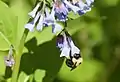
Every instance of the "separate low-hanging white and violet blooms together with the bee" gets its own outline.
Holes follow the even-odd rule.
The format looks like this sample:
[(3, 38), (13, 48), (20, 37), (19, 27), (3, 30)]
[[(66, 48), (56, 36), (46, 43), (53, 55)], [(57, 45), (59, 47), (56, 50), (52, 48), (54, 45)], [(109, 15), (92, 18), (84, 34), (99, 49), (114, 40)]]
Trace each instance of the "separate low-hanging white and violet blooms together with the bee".
[(80, 55), (80, 50), (75, 46), (66, 30), (57, 36), (57, 47), (61, 51), (60, 57), (64, 56), (67, 58), (66, 64), (68, 67), (74, 69), (83, 61)]

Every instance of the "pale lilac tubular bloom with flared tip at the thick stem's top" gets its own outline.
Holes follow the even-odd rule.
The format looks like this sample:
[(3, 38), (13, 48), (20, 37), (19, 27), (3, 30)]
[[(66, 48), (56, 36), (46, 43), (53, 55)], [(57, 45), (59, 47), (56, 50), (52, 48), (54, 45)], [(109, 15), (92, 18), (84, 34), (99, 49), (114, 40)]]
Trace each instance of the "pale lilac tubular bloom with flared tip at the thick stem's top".
[(34, 18), (31, 22), (25, 24), (24, 27), (25, 27), (26, 29), (28, 29), (30, 32), (33, 32), (33, 31), (34, 31), (35, 24), (36, 24), (36, 22), (38, 21), (39, 17), (40, 17), (40, 12), (37, 13), (37, 15), (35, 16), (35, 18)]

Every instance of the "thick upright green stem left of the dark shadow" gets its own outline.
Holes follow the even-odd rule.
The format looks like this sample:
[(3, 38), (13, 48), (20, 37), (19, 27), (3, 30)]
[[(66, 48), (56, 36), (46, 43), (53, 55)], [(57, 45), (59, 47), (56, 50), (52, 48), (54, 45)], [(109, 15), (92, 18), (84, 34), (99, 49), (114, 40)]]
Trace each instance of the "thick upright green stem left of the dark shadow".
[(27, 38), (28, 32), (29, 31), (27, 29), (24, 30), (23, 36), (22, 36), (22, 38), (20, 40), (18, 51), (15, 54), (15, 65), (13, 67), (13, 73), (12, 73), (12, 80), (11, 80), (11, 82), (17, 82), (17, 77), (18, 77), (19, 67), (20, 67), (21, 55), (22, 55), (22, 52), (23, 52), (24, 43), (25, 43), (25, 40)]

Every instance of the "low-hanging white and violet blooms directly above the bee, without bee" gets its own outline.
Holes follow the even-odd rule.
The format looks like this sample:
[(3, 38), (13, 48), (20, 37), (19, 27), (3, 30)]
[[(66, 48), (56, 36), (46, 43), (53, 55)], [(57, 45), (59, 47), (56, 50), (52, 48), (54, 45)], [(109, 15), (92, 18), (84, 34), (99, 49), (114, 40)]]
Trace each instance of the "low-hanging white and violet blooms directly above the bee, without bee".
[(64, 33), (59, 35), (57, 39), (57, 47), (60, 48), (61, 54), (60, 57), (65, 56), (66, 58), (74, 56), (74, 54), (79, 54), (80, 50), (75, 46), (70, 36)]

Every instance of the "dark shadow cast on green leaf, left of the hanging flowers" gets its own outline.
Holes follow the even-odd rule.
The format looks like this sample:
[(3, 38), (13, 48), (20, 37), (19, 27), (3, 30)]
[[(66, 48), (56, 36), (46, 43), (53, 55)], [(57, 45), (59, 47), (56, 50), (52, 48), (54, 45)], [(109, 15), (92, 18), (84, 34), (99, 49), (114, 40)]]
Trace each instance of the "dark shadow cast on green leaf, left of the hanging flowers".
[(57, 75), (64, 60), (60, 58), (59, 49), (56, 48), (56, 38), (41, 45), (37, 45), (36, 38), (32, 38), (25, 47), (29, 52), (22, 55), (20, 71), (29, 75), (36, 69), (43, 69), (46, 71), (43, 82), (51, 82), (50, 80)]

